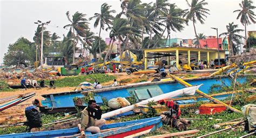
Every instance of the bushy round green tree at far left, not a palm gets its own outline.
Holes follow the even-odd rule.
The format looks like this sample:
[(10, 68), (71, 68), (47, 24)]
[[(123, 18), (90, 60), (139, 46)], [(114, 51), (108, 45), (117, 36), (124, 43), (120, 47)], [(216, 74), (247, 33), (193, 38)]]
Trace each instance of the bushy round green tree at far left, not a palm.
[(4, 54), (4, 64), (7, 66), (28, 67), (33, 65), (32, 55), (35, 54), (35, 47), (24, 38), (18, 38), (14, 44), (10, 44), (8, 52)]

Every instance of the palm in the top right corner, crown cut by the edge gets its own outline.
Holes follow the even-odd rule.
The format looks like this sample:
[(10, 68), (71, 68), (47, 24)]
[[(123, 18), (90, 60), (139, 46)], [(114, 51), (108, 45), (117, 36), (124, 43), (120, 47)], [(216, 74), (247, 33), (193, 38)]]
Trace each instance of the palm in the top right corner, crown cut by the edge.
[(256, 6), (253, 6), (253, 1), (250, 0), (243, 0), (242, 3), (239, 3), (239, 6), (241, 9), (235, 10), (233, 12), (239, 12), (237, 19), (240, 18), (240, 22), (242, 23), (242, 25), (245, 26), (245, 39), (247, 39), (246, 25), (251, 24), (250, 20), (252, 21), (252, 23), (256, 23), (256, 18), (253, 12)]

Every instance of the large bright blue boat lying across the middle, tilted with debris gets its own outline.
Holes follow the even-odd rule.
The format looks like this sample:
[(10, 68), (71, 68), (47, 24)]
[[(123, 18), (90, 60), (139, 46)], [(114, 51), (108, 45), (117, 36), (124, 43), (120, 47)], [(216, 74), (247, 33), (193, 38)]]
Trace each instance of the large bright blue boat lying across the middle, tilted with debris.
[[(200, 85), (200, 91), (208, 94), (210, 93), (211, 86), (231, 86), (232, 79), (228, 78), (227, 75), (220, 75), (217, 77), (200, 77), (193, 79), (184, 79), (191, 85)], [(240, 75), (237, 78), (238, 83), (246, 82), (246, 75)], [(42, 95), (45, 100), (41, 101), (41, 111), (48, 113), (56, 112), (70, 112), (75, 111), (75, 104), (73, 98), (82, 98), (87, 93), (95, 93), (94, 99), (100, 105), (103, 103), (102, 98), (110, 100), (112, 98), (123, 97), (127, 98), (132, 94), (136, 96), (137, 101), (145, 100), (157, 96), (160, 94), (176, 91), (177, 89), (184, 88), (183, 85), (179, 84), (175, 80), (170, 81), (157, 81), (157, 82), (142, 82), (138, 84), (132, 84), (127, 86), (110, 87), (103, 89), (95, 89), (89, 91), (75, 91), (75, 92), (64, 92), (55, 94)], [(218, 98), (225, 98), (227, 95), (221, 95)], [(83, 103), (86, 106), (86, 103)]]

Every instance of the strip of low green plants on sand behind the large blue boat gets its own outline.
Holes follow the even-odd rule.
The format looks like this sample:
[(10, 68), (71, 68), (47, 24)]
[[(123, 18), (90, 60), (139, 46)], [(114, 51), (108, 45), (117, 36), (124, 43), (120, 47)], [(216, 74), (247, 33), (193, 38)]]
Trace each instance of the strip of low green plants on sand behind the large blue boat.
[[(116, 79), (113, 75), (107, 74), (89, 74), (83, 76), (76, 76), (76, 77), (65, 77), (62, 79), (57, 79), (55, 81), (56, 87), (75, 87), (78, 86), (81, 82), (87, 81), (93, 83), (95, 80), (98, 80), (100, 83), (108, 82), (113, 79)], [(45, 83), (49, 84), (49, 80), (46, 80)]]

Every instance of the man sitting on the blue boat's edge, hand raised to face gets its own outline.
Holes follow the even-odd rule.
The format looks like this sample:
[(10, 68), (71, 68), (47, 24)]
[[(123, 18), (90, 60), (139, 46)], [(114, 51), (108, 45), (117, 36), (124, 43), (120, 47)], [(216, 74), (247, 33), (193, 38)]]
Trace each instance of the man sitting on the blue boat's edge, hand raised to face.
[(95, 100), (90, 100), (88, 106), (82, 111), (81, 115), (81, 132), (84, 130), (92, 133), (100, 133), (100, 127), (102, 127), (106, 120), (102, 118), (102, 110), (100, 106), (96, 105)]

